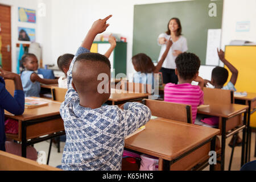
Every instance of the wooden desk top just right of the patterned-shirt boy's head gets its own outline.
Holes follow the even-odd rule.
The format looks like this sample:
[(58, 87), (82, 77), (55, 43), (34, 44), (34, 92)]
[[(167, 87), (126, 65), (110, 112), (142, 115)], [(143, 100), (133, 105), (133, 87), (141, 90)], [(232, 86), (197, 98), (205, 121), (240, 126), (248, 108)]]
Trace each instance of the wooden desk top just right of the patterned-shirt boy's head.
[(150, 93), (124, 93), (124, 90), (111, 89), (111, 95), (109, 101), (126, 101), (133, 100), (136, 98), (144, 98), (150, 96)]

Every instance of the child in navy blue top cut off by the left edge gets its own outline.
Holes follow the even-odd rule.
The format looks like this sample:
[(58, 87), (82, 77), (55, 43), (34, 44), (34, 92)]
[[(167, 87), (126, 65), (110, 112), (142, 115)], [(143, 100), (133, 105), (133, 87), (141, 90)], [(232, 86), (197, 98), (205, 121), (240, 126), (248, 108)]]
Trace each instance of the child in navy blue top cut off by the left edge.
[[(5, 80), (14, 81), (14, 97), (6, 90)], [(0, 68), (0, 150), (21, 156), (21, 144), (11, 140), (6, 141), (5, 135), (5, 110), (11, 114), (20, 115), (24, 112), (24, 92), (20, 76), (16, 73), (8, 72)], [(27, 147), (27, 158), (36, 160), (37, 152), (34, 147)]]

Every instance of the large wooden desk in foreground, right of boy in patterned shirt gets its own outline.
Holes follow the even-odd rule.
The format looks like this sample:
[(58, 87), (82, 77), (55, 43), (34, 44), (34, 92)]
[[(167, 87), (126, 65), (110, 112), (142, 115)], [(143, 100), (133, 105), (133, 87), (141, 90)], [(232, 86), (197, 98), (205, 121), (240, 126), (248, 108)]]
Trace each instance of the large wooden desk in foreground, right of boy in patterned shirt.
[(202, 156), (209, 159), (208, 153), (215, 151), (215, 138), (220, 133), (218, 129), (163, 118), (151, 119), (145, 126), (125, 140), (125, 148), (159, 158), (159, 170), (185, 170)]

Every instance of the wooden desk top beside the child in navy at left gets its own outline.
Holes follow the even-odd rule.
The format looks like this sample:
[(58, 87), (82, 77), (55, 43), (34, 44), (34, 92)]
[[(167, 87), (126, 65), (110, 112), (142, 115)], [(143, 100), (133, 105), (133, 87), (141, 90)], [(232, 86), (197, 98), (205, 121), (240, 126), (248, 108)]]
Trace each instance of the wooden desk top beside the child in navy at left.
[(25, 109), (22, 115), (13, 115), (5, 110), (6, 117), (17, 119), (20, 121), (27, 121), (30, 119), (37, 119), (43, 117), (49, 117), (52, 115), (59, 115), (60, 114), (60, 104), (61, 102), (47, 100), (44, 98), (33, 97), (40, 99), (40, 101), (48, 102), (46, 106), (35, 107), (32, 109)]

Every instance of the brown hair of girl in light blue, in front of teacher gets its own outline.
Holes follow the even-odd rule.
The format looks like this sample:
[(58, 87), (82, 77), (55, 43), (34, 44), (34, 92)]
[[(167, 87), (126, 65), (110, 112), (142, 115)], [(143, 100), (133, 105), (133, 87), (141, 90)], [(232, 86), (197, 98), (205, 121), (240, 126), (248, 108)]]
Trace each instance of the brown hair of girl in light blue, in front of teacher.
[(131, 58), (134, 69), (141, 73), (152, 73), (154, 72), (155, 65), (152, 63), (150, 57), (144, 53), (138, 53)]

